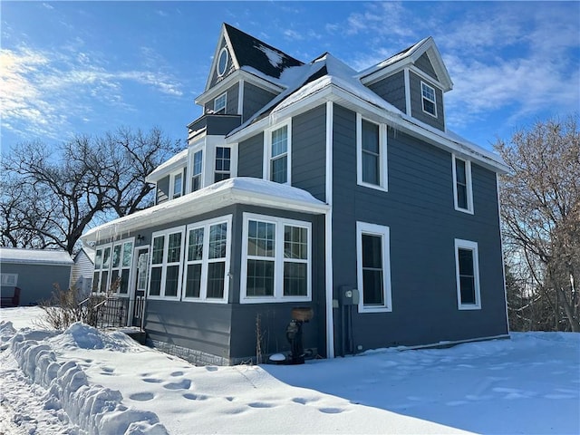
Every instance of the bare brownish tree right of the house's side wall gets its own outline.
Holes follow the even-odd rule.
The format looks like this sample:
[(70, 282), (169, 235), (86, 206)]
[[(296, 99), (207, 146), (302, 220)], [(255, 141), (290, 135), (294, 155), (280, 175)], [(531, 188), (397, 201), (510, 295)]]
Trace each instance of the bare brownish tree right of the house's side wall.
[(577, 118), (575, 115), (562, 122), (537, 122), (529, 131), (517, 131), (510, 143), (499, 140), (496, 144), (496, 150), (511, 169), (501, 178), (508, 263), (512, 270), (527, 275), (524, 305), (542, 306), (534, 313), (545, 318), (533, 323), (549, 327), (548, 315), (552, 319), (550, 329), (556, 331), (580, 332), (575, 288), (580, 281)]

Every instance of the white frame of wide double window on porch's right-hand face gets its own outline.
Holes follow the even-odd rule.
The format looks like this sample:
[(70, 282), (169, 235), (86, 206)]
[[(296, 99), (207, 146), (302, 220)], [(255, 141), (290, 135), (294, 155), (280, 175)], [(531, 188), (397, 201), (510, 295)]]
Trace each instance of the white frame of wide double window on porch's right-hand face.
[[(274, 295), (272, 296), (248, 296), (247, 295), (247, 236), (248, 223), (250, 220), (266, 222), (275, 225), (275, 255), (274, 260)], [(240, 304), (264, 304), (285, 302), (310, 302), (312, 301), (312, 224), (302, 220), (276, 218), (255, 213), (244, 213), (242, 230), (242, 267), (240, 275)], [(306, 295), (284, 295), (284, 263), (292, 261), (284, 256), (284, 230), (285, 226), (302, 227), (308, 231), (308, 258), (306, 263)]]

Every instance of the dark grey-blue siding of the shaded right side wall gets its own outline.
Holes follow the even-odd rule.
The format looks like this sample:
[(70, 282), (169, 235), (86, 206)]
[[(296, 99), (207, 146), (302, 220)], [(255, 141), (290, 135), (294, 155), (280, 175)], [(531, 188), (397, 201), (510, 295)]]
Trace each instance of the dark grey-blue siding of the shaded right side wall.
[[(507, 333), (495, 173), (472, 164), (475, 215), (453, 208), (451, 156), (389, 131), (389, 191), (356, 184), (355, 114), (334, 109), (333, 285), (357, 285), (356, 221), (390, 227), (391, 313), (353, 313), (354, 345)], [(454, 239), (478, 243), (481, 310), (459, 311)], [(336, 311), (336, 310), (335, 310)], [(336, 314), (336, 313), (335, 313)], [(335, 315), (340, 342), (340, 318)], [(337, 349), (340, 353), (340, 348)]]

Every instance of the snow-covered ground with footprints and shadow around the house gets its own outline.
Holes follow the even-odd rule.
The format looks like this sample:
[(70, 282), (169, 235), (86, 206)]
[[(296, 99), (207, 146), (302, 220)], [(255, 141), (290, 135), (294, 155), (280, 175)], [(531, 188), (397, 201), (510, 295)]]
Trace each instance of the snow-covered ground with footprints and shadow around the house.
[(195, 367), (41, 314), (0, 310), (0, 434), (580, 433), (578, 333)]

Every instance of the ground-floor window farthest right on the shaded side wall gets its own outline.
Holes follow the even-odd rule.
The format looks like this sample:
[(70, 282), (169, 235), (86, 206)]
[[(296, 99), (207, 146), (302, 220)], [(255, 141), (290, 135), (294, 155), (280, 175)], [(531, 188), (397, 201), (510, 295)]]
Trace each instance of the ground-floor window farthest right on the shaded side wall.
[(459, 310), (481, 309), (478, 244), (455, 239), (455, 271)]

